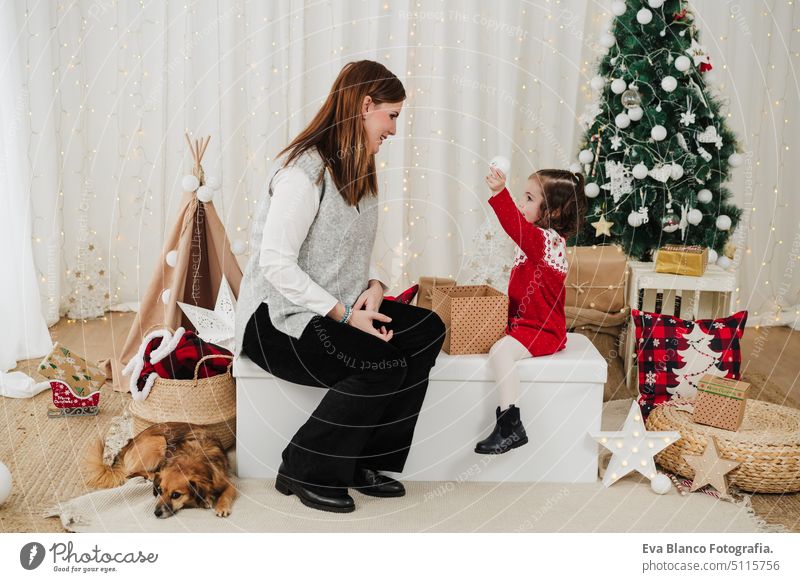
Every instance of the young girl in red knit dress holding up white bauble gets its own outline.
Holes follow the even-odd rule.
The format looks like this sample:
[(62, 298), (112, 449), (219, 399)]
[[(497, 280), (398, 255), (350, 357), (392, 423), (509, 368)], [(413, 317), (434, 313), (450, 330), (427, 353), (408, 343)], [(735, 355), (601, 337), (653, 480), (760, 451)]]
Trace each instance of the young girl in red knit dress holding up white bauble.
[(528, 442), (516, 407), (517, 360), (546, 356), (567, 343), (564, 280), (566, 238), (578, 232), (586, 206), (583, 176), (567, 170), (539, 170), (528, 178), (523, 199), (514, 203), (497, 168), (486, 176), (489, 204), (500, 225), (517, 243), (508, 282), (506, 335), (489, 351), (489, 366), (500, 390), (497, 423), (475, 446), (476, 453), (501, 454)]

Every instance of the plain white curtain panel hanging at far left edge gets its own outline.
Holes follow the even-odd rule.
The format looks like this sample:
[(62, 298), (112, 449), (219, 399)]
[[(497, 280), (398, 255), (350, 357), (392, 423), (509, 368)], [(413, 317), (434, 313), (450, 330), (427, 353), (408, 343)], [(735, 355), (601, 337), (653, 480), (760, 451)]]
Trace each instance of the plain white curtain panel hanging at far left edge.
[(26, 116), (16, 48), (14, 6), (0, 4), (0, 393), (18, 360), (52, 347), (31, 249), (30, 176), (25, 159)]

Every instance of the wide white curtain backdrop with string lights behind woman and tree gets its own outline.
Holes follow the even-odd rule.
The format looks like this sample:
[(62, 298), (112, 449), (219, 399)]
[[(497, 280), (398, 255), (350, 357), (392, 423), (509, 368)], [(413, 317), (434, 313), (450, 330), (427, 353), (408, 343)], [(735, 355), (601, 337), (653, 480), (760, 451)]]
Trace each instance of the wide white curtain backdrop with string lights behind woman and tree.
[[(628, 0), (629, 9), (640, 4)], [(420, 275), (468, 278), (490, 212), (487, 161), (511, 157), (512, 189), (537, 168), (574, 161), (609, 5), (16, 0), (31, 138), (23, 160), (48, 323), (58, 306), (63, 313), (66, 273), (87, 235), (108, 265), (110, 302), (138, 300), (190, 169), (184, 131), (212, 136), (204, 165), (223, 182), (215, 204), (230, 237), (246, 240), (270, 159), (341, 66), (365, 58), (386, 64), (409, 96), (398, 135), (379, 154), (378, 253), (392, 290)], [(745, 209), (738, 307), (751, 322), (792, 323), (800, 8), (784, 0), (693, 7), (747, 152), (731, 184)]]

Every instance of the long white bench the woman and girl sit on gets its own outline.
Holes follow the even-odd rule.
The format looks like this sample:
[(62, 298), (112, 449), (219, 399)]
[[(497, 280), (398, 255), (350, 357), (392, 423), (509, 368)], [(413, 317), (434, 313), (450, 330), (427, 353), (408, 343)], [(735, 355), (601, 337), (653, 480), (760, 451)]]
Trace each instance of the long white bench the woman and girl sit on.
[[(518, 406), (528, 444), (503, 455), (478, 455), (475, 443), (495, 423), (498, 394), (487, 355), (442, 352), (431, 370), (414, 441), (401, 477), (410, 481), (549, 481), (597, 479), (597, 444), (607, 364), (592, 343), (568, 334), (552, 356), (517, 363)], [(236, 456), (240, 477), (274, 477), (281, 451), (308, 419), (324, 388), (275, 378), (246, 357), (236, 377)]]

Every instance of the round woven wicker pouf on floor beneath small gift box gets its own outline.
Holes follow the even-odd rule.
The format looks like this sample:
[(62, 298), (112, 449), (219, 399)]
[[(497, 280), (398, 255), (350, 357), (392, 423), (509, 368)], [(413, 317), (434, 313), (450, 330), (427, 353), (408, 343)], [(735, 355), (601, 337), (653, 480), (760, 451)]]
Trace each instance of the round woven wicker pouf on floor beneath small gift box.
[(721, 457), (741, 463), (728, 473), (731, 485), (753, 493), (800, 491), (800, 410), (748, 400), (742, 426), (734, 432), (695, 424), (691, 413), (675, 406), (657, 406), (647, 417), (647, 429), (680, 432), (681, 439), (656, 456), (668, 471), (694, 478), (683, 455), (701, 455), (713, 436)]

